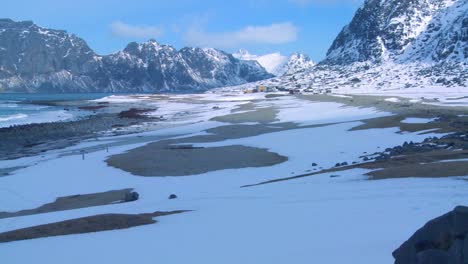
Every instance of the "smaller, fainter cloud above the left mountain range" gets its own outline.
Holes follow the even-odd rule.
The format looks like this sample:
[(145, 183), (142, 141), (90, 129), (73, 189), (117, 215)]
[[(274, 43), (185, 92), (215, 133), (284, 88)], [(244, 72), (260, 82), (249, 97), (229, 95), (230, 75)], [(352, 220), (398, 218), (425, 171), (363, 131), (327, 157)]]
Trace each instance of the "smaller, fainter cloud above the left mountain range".
[(163, 34), (162, 27), (158, 26), (134, 26), (114, 21), (111, 24), (112, 34), (122, 38), (157, 38)]

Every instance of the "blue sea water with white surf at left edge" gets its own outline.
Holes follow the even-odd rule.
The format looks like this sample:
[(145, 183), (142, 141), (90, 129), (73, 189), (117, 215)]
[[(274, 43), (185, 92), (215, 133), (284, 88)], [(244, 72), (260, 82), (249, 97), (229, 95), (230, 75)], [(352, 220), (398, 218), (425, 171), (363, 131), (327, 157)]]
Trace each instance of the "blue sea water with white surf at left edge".
[(0, 93), (0, 127), (71, 120), (76, 110), (40, 105), (38, 102), (81, 101), (99, 99), (111, 94), (9, 94)]

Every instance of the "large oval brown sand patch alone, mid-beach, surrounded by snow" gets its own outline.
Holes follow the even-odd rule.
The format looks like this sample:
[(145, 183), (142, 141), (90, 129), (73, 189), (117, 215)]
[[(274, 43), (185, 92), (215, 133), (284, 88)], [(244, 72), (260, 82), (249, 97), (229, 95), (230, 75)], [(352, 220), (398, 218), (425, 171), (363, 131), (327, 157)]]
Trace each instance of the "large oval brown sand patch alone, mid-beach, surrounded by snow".
[(149, 144), (107, 160), (110, 166), (139, 176), (188, 176), (225, 169), (273, 166), (287, 157), (266, 149), (241, 145), (158, 148)]

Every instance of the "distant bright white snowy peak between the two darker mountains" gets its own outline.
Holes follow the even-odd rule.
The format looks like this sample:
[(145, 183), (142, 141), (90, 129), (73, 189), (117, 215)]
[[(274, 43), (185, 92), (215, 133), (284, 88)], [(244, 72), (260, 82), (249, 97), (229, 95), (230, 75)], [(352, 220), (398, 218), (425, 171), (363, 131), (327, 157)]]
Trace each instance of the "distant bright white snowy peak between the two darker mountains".
[(279, 52), (266, 55), (252, 55), (248, 51), (241, 49), (234, 53), (233, 56), (241, 60), (257, 61), (263, 68), (275, 76), (290, 75), (306, 71), (315, 65), (309, 56), (301, 53), (294, 53), (289, 57)]

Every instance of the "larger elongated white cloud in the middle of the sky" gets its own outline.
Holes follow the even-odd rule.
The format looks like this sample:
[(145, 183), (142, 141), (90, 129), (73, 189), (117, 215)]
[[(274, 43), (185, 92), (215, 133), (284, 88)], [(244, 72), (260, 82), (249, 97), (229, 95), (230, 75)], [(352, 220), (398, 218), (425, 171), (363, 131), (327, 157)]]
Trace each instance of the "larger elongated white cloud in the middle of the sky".
[(247, 26), (237, 31), (208, 33), (192, 27), (185, 33), (185, 41), (202, 47), (233, 48), (252, 44), (285, 44), (297, 39), (298, 29), (290, 22), (268, 26)]

